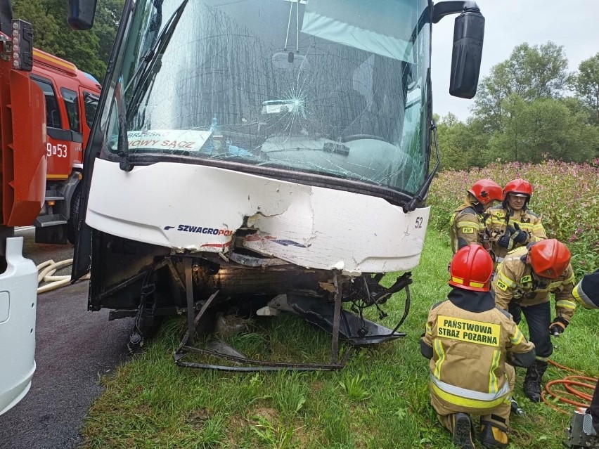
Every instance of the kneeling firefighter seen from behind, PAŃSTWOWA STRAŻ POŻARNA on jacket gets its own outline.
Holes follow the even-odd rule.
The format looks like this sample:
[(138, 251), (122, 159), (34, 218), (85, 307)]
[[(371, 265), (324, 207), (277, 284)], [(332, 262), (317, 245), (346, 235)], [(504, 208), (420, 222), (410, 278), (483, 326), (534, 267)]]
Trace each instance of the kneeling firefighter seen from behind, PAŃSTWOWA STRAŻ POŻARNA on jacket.
[(453, 288), (432, 306), (420, 351), (430, 358), (430, 403), (453, 443), (474, 448), (470, 415), (479, 415), (482, 444), (508, 446), (512, 365), (534, 363), (534, 345), (512, 317), (496, 308), (491, 292), (493, 261), (481, 245), (456, 252), (449, 267)]

